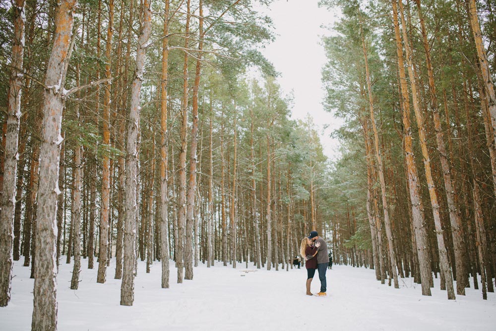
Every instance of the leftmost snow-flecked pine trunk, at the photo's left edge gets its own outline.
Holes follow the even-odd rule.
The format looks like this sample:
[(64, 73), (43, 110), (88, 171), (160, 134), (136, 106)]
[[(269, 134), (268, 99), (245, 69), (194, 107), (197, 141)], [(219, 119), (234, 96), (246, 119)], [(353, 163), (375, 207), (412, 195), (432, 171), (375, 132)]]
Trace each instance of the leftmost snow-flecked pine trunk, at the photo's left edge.
[(25, 1), (15, 0), (12, 70), (9, 80), (7, 130), (5, 133), (3, 186), (0, 198), (0, 307), (10, 300), (14, 243), (14, 209), (17, 182), (19, 119), (21, 117), (21, 83), (24, 54)]

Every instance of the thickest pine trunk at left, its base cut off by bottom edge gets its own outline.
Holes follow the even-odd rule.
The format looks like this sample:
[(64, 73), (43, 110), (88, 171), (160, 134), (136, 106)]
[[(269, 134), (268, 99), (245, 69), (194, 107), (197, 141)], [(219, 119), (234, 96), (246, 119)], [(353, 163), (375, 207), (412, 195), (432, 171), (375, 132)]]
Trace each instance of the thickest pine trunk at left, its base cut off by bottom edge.
[(34, 308), (31, 329), (57, 330), (57, 196), (62, 142), (63, 85), (70, 57), (73, 11), (77, 0), (57, 4), (56, 32), (45, 79), (40, 181), (35, 243)]

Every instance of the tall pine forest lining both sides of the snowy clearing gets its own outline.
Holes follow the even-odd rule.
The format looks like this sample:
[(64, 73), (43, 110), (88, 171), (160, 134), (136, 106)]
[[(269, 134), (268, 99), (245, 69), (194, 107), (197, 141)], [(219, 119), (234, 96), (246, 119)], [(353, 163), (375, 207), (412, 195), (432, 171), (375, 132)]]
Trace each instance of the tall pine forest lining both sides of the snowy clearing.
[(296, 1), (335, 17), (316, 77), (333, 156), (329, 123), (292, 114), (286, 55), (265, 56), (278, 2), (295, 1), (0, 2), (0, 314), (17, 270), (44, 331), (62, 288), (89, 282), (133, 306), (150, 270), (163, 298), (203, 266), (288, 277), (310, 231), (331, 295), (348, 266), (389, 291), (411, 279), (415, 300), (494, 305), (494, 1)]

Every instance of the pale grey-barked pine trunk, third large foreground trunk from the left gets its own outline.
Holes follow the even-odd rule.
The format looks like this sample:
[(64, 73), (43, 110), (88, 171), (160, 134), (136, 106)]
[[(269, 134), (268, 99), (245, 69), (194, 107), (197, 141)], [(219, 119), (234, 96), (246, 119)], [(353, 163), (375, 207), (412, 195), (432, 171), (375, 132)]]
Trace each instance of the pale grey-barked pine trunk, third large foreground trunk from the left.
[(143, 1), (142, 29), (138, 37), (136, 50), (136, 69), (131, 89), (131, 109), (127, 123), (127, 156), (126, 156), (126, 186), (124, 224), (124, 268), (121, 284), (121, 305), (132, 306), (134, 301), (134, 260), (135, 260), (135, 233), (136, 233), (136, 188), (137, 188), (137, 143), (139, 134), (139, 114), (141, 84), (143, 81), (143, 67), (145, 62), (146, 44), (151, 32), (151, 2)]

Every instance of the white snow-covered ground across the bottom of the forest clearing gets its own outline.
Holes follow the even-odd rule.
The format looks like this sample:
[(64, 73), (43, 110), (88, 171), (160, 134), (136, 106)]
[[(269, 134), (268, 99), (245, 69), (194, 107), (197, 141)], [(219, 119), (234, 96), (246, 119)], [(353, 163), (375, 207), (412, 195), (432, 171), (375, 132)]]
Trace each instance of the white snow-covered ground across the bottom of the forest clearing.
[[(62, 262), (65, 259), (61, 260)], [(496, 295), (482, 300), (480, 290), (447, 300), (438, 288), (421, 295), (412, 279), (400, 279), (400, 289), (381, 285), (374, 271), (335, 265), (327, 272), (328, 296), (305, 295), (305, 269), (267, 271), (238, 264), (194, 268), (194, 280), (177, 284), (171, 263), (171, 288), (160, 288), (161, 266), (149, 274), (139, 262), (134, 305), (120, 306), (121, 281), (96, 283), (95, 269), (82, 260), (78, 290), (70, 290), (72, 265), (61, 264), (58, 276), (58, 330), (496, 330)], [(245, 272), (246, 270), (252, 270)], [(33, 280), (29, 268), (14, 265), (12, 299), (0, 308), (0, 330), (29, 330), (33, 310)], [(312, 292), (318, 292), (315, 275)]]

